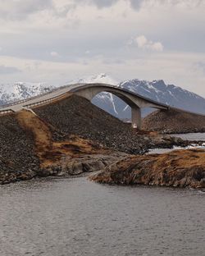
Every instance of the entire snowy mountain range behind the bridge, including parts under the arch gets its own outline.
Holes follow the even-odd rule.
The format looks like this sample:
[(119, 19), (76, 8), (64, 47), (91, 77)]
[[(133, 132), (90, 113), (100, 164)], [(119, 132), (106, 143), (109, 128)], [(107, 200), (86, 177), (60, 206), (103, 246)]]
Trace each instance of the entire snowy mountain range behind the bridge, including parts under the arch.
[[(205, 114), (205, 98), (178, 86), (166, 85), (163, 80), (147, 81), (134, 79), (119, 82), (112, 79), (109, 75), (100, 74), (91, 75), (81, 78), (80, 80), (73, 80), (70, 83), (105, 83), (117, 85), (160, 103), (166, 103), (187, 111)], [(55, 87), (45, 83), (18, 82), (14, 85), (0, 85), (0, 106), (15, 102), (16, 100), (44, 94), (48, 91), (52, 91), (52, 89), (55, 89)], [(115, 117), (130, 119), (130, 107), (115, 95), (103, 92), (94, 97), (92, 102)], [(152, 111), (151, 109), (146, 109), (143, 115), (145, 116)]]

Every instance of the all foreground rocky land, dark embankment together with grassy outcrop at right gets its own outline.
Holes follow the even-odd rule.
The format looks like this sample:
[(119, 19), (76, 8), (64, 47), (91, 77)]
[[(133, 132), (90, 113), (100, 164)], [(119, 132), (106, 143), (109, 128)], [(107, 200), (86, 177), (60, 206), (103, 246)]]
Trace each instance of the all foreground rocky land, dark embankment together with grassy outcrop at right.
[(0, 184), (99, 171), (92, 181), (204, 185), (203, 150), (144, 155), (148, 149), (184, 147), (190, 142), (133, 130), (75, 94), (0, 117), (0, 144)]

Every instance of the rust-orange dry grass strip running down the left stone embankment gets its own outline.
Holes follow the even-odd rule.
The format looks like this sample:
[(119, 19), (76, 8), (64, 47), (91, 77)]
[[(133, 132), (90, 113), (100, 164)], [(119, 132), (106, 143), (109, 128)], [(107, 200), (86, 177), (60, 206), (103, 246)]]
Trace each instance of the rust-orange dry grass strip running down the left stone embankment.
[(72, 135), (65, 142), (53, 142), (52, 130), (47, 123), (35, 116), (34, 113), (24, 110), (16, 115), (20, 125), (27, 132), (34, 135), (35, 152), (40, 159), (41, 167), (57, 164), (62, 160), (62, 157), (76, 158), (84, 154), (107, 151), (99, 148), (98, 144), (75, 135)]

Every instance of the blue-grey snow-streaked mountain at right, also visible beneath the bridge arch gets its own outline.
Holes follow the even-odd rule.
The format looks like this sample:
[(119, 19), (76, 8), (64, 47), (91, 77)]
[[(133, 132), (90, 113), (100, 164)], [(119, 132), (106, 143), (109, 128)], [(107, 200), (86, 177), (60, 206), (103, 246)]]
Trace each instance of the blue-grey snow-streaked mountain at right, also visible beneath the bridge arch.
[[(178, 86), (166, 85), (163, 80), (126, 80), (121, 82), (119, 86), (160, 103), (166, 103), (190, 112), (205, 114), (205, 98)], [(130, 107), (114, 95), (111, 96), (108, 93), (98, 94), (93, 98), (93, 103), (116, 117), (121, 119), (130, 118)], [(152, 111), (153, 109), (144, 109), (143, 115), (145, 116)]]

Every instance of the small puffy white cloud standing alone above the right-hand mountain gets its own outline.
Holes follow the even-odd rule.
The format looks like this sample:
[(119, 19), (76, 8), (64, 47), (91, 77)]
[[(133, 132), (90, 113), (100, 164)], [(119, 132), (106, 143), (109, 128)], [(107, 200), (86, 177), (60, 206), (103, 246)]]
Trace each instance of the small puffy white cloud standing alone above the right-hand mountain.
[(140, 49), (152, 50), (156, 52), (162, 52), (164, 48), (162, 43), (148, 40), (144, 35), (139, 35), (138, 37), (131, 39), (128, 44), (136, 45)]

